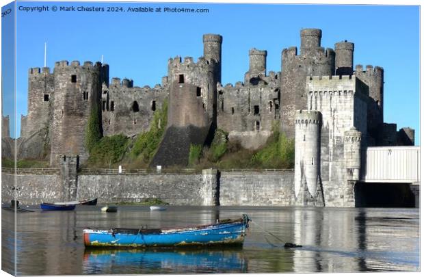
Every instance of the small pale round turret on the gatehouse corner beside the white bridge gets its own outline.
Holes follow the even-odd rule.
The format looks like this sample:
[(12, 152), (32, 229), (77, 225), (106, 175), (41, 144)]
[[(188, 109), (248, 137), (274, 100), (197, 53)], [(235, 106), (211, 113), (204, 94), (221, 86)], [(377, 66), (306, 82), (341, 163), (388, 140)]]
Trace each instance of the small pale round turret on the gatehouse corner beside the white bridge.
[(345, 131), (343, 149), (347, 180), (359, 180), (361, 135), (362, 133), (355, 127)]

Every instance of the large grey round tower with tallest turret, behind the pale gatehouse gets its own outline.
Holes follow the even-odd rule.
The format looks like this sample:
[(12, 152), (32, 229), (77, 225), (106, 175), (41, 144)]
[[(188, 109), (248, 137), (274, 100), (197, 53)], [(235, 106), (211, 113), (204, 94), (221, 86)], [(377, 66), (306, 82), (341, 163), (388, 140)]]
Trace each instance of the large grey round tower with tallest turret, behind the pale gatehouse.
[(290, 138), (295, 137), (295, 111), (306, 109), (306, 77), (334, 75), (335, 53), (321, 47), (321, 30), (302, 29), (300, 38), (300, 55), (296, 47), (282, 51), (281, 129)]

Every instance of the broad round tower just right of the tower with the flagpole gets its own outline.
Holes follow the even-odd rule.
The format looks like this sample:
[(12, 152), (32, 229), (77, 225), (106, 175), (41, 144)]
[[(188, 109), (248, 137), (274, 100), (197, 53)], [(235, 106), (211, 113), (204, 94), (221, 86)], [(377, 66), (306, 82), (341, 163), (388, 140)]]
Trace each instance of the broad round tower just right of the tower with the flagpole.
[(60, 155), (79, 155), (81, 163), (87, 161), (88, 144), (101, 137), (101, 77), (106, 69), (100, 62), (55, 63), (51, 166)]

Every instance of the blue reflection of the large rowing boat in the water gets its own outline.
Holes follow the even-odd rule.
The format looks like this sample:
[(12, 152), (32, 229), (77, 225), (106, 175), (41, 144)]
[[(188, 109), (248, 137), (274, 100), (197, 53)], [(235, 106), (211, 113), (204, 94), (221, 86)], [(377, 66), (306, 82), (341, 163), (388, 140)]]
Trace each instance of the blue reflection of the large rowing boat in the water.
[(247, 272), (241, 250), (91, 250), (85, 249), (83, 274)]

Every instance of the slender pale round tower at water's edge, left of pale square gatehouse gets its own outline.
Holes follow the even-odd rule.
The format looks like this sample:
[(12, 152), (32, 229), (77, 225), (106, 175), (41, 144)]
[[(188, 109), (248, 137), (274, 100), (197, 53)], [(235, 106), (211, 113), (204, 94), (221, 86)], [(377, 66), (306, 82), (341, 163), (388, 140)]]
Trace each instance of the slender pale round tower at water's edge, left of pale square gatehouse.
[(319, 111), (296, 111), (295, 198), (297, 205), (323, 205), (320, 178), (321, 125)]

